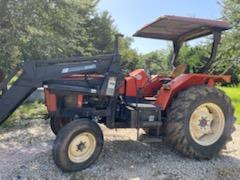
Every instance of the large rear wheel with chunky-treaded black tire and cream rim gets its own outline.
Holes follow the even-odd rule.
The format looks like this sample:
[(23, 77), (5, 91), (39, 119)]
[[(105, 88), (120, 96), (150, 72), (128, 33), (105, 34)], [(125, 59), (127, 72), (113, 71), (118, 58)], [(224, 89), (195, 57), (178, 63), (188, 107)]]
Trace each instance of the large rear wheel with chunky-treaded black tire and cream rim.
[(166, 142), (183, 155), (210, 159), (231, 140), (234, 109), (224, 92), (195, 86), (180, 92), (167, 112)]

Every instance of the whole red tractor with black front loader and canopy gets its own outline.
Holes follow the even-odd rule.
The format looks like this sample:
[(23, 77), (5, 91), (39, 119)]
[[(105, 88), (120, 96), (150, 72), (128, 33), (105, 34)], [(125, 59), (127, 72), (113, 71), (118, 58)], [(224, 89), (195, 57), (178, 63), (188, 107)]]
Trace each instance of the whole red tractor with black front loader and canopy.
[[(221, 32), (228, 29), (223, 21), (164, 16), (137, 31), (134, 36), (173, 42), (170, 62), (174, 70), (167, 76), (150, 76), (136, 69), (122, 78), (118, 36), (113, 54), (26, 62), (9, 90), (4, 85), (11, 76), (1, 86), (0, 122), (43, 86), (57, 136), (53, 158), (64, 171), (85, 169), (98, 158), (103, 147), (98, 123), (108, 128), (143, 128), (149, 137), (164, 136), (167, 144), (185, 156), (210, 159), (231, 140), (234, 130), (231, 101), (214, 87), (229, 83), (231, 77), (206, 74), (216, 57)], [(210, 34), (211, 55), (198, 72), (190, 73), (187, 64), (175, 67), (184, 42)]]

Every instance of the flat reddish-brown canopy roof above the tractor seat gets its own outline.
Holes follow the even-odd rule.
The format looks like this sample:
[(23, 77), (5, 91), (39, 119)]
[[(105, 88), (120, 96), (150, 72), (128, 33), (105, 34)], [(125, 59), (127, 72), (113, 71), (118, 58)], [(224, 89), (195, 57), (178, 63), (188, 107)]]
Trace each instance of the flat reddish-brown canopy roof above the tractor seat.
[(163, 16), (144, 26), (134, 36), (171, 41), (188, 41), (212, 34), (214, 31), (230, 29), (224, 21), (191, 17)]

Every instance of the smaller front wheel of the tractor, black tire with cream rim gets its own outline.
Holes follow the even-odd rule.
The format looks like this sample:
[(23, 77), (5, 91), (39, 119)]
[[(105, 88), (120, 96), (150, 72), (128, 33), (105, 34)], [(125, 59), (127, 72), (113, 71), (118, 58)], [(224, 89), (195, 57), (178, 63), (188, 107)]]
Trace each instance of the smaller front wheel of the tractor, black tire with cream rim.
[(89, 167), (102, 151), (103, 134), (97, 123), (80, 119), (61, 129), (53, 146), (53, 159), (63, 171)]

